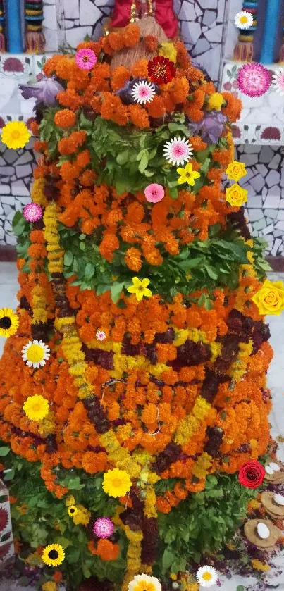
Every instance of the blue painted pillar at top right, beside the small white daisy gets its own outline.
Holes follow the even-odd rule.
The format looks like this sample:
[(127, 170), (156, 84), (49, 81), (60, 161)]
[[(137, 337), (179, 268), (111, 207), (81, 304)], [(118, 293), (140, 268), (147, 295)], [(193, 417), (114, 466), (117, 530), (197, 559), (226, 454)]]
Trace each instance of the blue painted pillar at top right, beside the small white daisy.
[(260, 62), (273, 63), (274, 47), (280, 18), (280, 0), (267, 0), (264, 36), (261, 45)]

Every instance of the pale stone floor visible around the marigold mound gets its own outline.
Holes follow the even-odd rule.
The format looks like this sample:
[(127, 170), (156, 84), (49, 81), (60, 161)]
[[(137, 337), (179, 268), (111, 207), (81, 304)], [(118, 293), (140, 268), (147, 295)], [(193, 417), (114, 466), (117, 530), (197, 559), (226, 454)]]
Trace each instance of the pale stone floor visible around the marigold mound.
[[(284, 280), (284, 274), (271, 273), (271, 280)], [(16, 281), (16, 266), (13, 263), (0, 263), (0, 308), (1, 307), (16, 307), (17, 299), (16, 292), (18, 285)], [(278, 435), (284, 435), (284, 313), (282, 316), (270, 316), (268, 322), (271, 328), (271, 345), (274, 349), (275, 356), (271, 363), (268, 372), (268, 385), (271, 388), (273, 394), (273, 411), (271, 413), (271, 433), (273, 437)], [(4, 339), (0, 339), (0, 354), (4, 344)], [(280, 444), (279, 459), (284, 461), (284, 444)], [(277, 564), (280, 568), (283, 568), (283, 574), (278, 578), (267, 575), (267, 589), (277, 589), (278, 591), (284, 591), (284, 553), (278, 554)], [(245, 591), (249, 585), (254, 585), (253, 578), (244, 579), (240, 577), (234, 577), (232, 580), (226, 580), (222, 578), (221, 589), (223, 591), (236, 591), (238, 585), (243, 585)], [(258, 591), (258, 585), (255, 583), (255, 587), (250, 587), (253, 591)], [(217, 591), (218, 587), (211, 587), (212, 591)], [(11, 581), (0, 583), (0, 591), (30, 591), (30, 588), (19, 587), (13, 585)]]

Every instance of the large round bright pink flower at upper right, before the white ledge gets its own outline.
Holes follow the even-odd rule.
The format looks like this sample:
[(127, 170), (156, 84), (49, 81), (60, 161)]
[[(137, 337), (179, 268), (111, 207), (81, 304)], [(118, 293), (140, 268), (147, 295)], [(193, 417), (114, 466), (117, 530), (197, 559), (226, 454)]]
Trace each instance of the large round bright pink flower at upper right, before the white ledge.
[(271, 85), (271, 73), (261, 63), (245, 63), (237, 75), (237, 87), (247, 97), (261, 97)]

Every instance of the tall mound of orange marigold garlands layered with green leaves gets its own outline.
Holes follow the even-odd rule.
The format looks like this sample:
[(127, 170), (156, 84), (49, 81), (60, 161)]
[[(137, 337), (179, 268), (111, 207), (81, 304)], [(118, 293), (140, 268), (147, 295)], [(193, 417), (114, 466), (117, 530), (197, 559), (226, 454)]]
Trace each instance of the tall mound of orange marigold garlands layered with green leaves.
[(233, 535), (254, 495), (235, 473), (268, 447), (261, 314), (283, 296), (261, 287), (245, 190), (223, 186), (245, 173), (240, 101), (181, 42), (145, 37), (149, 60), (112, 69), (139, 40), (129, 25), (47, 62), (61, 90), (38, 101), (35, 205), (13, 223), (0, 435), (17, 547), (46, 591), (127, 591), (139, 573), (195, 591), (187, 560)]

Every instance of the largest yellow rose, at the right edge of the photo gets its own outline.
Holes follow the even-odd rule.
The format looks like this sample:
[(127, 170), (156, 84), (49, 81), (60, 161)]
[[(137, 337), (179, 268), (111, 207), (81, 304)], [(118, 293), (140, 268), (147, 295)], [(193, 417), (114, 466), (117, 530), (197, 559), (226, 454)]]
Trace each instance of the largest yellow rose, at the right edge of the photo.
[(284, 310), (283, 281), (272, 282), (266, 279), (260, 290), (254, 294), (252, 301), (257, 305), (260, 314), (279, 316)]

